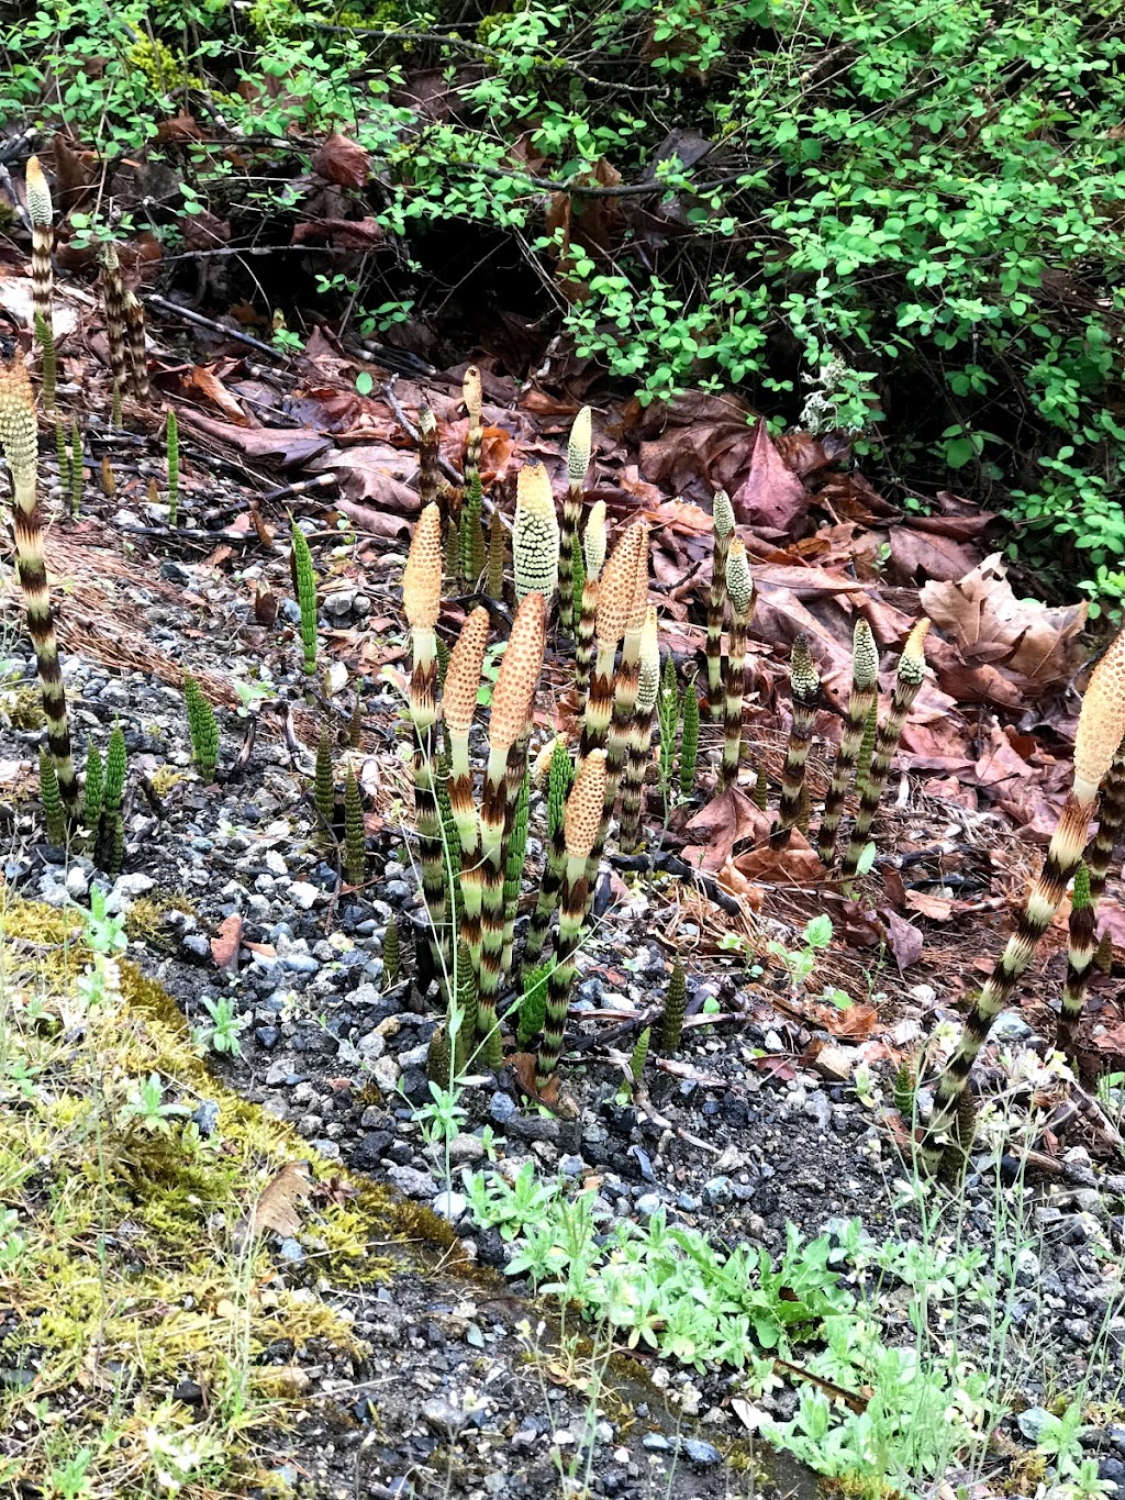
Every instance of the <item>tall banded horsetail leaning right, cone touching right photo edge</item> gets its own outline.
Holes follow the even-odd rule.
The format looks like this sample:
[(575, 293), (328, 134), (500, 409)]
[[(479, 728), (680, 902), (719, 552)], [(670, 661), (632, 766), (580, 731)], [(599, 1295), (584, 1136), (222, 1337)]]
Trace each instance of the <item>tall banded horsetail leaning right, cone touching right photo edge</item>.
[(940, 1076), (933, 1116), (922, 1140), (922, 1155), (930, 1170), (940, 1161), (942, 1137), (957, 1114), (976, 1054), (998, 1014), (1011, 1000), (1020, 976), (1059, 909), (1071, 876), (1078, 868), (1089, 820), (1098, 801), (1098, 788), (1122, 740), (1125, 740), (1125, 633), (1116, 636), (1094, 668), (1083, 694), (1074, 741), (1074, 789), (1062, 808), (1042, 872), (1032, 886), (1020, 924), (966, 1018), (960, 1046)]

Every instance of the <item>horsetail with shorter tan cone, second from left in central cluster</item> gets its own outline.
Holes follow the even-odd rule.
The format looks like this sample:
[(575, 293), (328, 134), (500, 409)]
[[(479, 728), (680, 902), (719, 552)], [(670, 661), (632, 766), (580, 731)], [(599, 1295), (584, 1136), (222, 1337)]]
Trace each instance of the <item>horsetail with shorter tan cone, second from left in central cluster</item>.
[(470, 734), (488, 638), (489, 612), (477, 608), (453, 644), (441, 700), (450, 746), (448, 801), (460, 846), (460, 938), (468, 948), (474, 975), (480, 972), (480, 900), (484, 873), (480, 867), (480, 819), (472, 801)]

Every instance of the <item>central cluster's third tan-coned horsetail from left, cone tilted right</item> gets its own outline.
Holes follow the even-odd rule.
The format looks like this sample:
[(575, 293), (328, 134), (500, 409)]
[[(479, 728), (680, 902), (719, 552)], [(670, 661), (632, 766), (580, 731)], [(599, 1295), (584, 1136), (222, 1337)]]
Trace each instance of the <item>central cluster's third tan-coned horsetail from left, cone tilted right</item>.
[(489, 758), (480, 802), (480, 992), (477, 1029), (489, 1068), (501, 1060), (496, 994), (504, 960), (504, 873), (507, 830), (514, 820), (519, 780), (526, 762), (526, 732), (546, 651), (546, 600), (525, 594), (492, 688)]

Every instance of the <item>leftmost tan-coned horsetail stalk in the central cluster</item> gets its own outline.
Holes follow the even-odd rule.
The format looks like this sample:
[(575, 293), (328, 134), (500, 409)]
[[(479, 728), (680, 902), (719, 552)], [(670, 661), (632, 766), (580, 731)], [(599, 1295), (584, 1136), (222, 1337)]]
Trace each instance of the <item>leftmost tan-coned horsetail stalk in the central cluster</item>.
[(438, 636), (441, 614), (441, 512), (430, 501), (418, 516), (402, 572), (402, 603), (411, 638), (410, 717), (414, 726), (414, 812), (418, 826), (422, 897), (440, 974), (453, 962), (447, 927), (446, 861), (436, 789)]

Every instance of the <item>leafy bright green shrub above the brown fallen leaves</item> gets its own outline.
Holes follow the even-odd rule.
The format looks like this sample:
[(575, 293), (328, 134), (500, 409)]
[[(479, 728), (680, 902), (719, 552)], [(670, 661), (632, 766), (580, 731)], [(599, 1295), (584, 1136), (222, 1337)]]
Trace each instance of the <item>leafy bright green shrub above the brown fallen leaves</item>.
[[(387, 249), (316, 278), (368, 333), (424, 316), (429, 256), (476, 226), (526, 272), (544, 342), (561, 327), (642, 402), (734, 387), (777, 423), (844, 430), (884, 483), (987, 500), (1022, 558), (1114, 604), (1116, 14), (76, 0), (0, 27), (0, 112), (108, 162), (168, 160), (178, 189), (110, 194), (72, 230), (94, 243), (117, 219), (172, 254), (204, 210), (234, 244), (297, 218), (291, 180), (342, 132)], [(417, 68), (442, 70), (448, 111), (405, 106)], [(160, 132), (196, 105), (238, 132), (237, 158)]]

